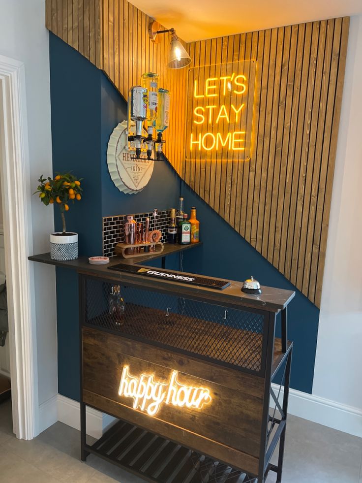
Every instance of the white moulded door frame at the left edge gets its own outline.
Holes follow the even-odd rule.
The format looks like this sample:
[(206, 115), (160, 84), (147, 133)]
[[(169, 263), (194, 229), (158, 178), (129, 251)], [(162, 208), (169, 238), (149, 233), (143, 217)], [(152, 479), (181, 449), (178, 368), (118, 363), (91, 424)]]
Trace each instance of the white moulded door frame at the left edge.
[[(4, 122), (2, 122), (4, 120)], [(30, 161), (22, 62), (0, 55), (0, 174), (8, 297), (14, 433), (38, 434), (38, 378), (32, 254)]]

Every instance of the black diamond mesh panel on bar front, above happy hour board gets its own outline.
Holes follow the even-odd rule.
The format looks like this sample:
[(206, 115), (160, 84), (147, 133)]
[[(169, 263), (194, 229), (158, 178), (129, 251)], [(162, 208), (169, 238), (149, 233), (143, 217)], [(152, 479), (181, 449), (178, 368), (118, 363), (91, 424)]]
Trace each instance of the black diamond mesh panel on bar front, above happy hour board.
[(86, 279), (86, 322), (259, 372), (264, 316)]

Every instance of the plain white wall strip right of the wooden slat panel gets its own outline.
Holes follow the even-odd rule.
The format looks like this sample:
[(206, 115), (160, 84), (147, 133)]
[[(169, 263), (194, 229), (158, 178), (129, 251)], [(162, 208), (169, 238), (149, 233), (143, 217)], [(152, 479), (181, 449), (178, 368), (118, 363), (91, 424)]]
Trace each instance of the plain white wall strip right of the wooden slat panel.
[(362, 409), (362, 15), (351, 17), (313, 395)]

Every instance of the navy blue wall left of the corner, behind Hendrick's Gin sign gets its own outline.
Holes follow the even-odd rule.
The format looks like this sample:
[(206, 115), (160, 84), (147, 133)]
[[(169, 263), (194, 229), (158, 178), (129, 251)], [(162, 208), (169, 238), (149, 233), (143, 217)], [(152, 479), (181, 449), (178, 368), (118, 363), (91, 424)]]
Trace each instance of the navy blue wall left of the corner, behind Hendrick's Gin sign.
[[(107, 169), (112, 130), (126, 118), (126, 103), (107, 77), (77, 51), (50, 33), (50, 84), (53, 171), (72, 170), (83, 177), (82, 201), (70, 204), (67, 229), (79, 233), (81, 256), (102, 253), (102, 217), (164, 210), (176, 205), (180, 181), (168, 163), (155, 163), (147, 187), (121, 193)], [(44, 175), (48, 173), (44, 173)], [(55, 206), (56, 230), (61, 230)], [(155, 260), (154, 266), (160, 261)], [(178, 268), (171, 257), (167, 266)], [(76, 274), (57, 268), (58, 389), (79, 400), (78, 287)]]

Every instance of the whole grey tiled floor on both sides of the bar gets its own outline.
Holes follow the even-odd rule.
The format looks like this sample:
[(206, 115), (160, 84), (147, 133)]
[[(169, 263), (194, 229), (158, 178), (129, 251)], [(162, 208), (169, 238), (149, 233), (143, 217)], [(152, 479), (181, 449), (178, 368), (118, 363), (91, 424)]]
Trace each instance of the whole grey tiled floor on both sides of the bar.
[[(12, 434), (11, 403), (0, 404), (1, 483), (142, 483), (107, 462), (79, 460), (79, 431), (60, 422), (33, 441)], [(362, 483), (362, 439), (289, 417), (283, 483)], [(274, 483), (275, 475), (267, 483)]]

